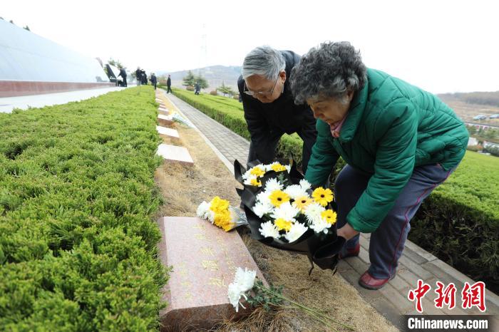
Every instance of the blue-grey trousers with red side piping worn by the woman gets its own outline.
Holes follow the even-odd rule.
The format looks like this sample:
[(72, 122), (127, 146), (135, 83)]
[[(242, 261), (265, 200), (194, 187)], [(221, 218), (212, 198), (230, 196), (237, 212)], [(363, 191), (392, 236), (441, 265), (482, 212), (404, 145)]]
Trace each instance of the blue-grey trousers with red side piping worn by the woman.
[[(421, 206), (423, 199), (456, 169), (443, 170), (441, 165), (424, 165), (414, 168), (406, 187), (396, 199), (395, 205), (373, 233), (369, 242), (369, 274), (376, 279), (387, 279), (396, 273), (398, 259), (407, 234), (409, 223)], [(334, 185), (336, 204), (338, 205), (338, 228), (346, 223), (346, 216), (354, 208), (361, 194), (366, 190), (370, 175), (365, 175), (354, 167), (346, 165), (336, 177)], [(345, 246), (356, 247), (359, 235), (353, 237)]]

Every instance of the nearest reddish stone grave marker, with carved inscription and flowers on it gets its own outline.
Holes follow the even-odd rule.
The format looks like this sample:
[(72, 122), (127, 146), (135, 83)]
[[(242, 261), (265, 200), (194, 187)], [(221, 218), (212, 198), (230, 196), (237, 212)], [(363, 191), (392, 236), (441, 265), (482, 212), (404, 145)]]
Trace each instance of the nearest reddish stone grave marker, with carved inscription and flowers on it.
[(162, 331), (211, 328), (223, 318), (249, 313), (249, 306), (235, 312), (227, 287), (237, 267), (256, 270), (259, 279), (264, 278), (237, 231), (224, 232), (192, 217), (162, 217), (159, 224), (160, 257), (173, 266), (163, 294), (169, 305), (160, 312)]

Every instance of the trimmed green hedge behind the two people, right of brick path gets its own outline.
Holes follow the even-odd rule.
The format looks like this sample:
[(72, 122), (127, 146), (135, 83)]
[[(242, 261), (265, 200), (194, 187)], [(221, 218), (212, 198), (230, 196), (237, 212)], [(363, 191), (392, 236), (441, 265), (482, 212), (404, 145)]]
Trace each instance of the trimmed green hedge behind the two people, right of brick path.
[[(249, 139), (237, 100), (213, 95), (173, 93), (211, 118)], [(279, 142), (278, 155), (301, 160), (295, 134)], [(340, 159), (336, 172), (341, 170)], [(332, 182), (331, 182), (332, 183)], [(409, 238), (473, 279), (499, 292), (499, 158), (466, 152), (458, 170), (421, 205)]]

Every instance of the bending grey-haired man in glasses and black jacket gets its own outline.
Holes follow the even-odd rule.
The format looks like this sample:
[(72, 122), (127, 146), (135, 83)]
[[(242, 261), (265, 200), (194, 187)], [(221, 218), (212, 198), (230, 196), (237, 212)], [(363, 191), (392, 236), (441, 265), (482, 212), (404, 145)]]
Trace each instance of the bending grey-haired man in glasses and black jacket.
[(289, 87), (299, 59), (292, 51), (269, 46), (254, 48), (245, 57), (237, 85), (251, 135), (248, 162), (272, 162), (282, 135), (297, 133), (303, 140), (302, 168), (307, 170), (317, 131), (312, 110), (307, 103), (296, 105)]

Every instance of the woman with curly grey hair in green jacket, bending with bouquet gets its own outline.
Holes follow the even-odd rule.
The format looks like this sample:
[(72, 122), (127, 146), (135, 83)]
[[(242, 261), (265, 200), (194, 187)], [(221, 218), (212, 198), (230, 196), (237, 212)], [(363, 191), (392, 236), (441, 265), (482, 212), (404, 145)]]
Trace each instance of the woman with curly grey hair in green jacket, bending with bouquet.
[(324, 185), (341, 156), (334, 185), (340, 258), (359, 255), (371, 233), (369, 269), (359, 279), (380, 289), (396, 275), (409, 222), (423, 199), (456, 169), (468, 131), (435, 95), (366, 68), (348, 42), (312, 48), (294, 67), (292, 92), (317, 118), (306, 179)]

